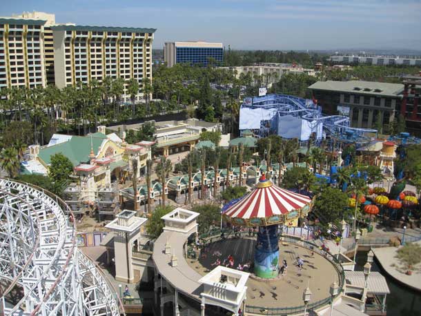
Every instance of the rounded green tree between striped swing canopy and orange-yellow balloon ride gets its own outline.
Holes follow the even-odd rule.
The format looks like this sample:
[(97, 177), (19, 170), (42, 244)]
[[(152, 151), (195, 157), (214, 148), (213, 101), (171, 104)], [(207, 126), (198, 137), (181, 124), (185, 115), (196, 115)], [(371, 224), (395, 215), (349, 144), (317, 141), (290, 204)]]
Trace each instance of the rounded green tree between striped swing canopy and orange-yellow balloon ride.
[(348, 195), (338, 188), (326, 186), (315, 197), (313, 212), (320, 218), (321, 224), (339, 224), (353, 215), (353, 210), (347, 208)]

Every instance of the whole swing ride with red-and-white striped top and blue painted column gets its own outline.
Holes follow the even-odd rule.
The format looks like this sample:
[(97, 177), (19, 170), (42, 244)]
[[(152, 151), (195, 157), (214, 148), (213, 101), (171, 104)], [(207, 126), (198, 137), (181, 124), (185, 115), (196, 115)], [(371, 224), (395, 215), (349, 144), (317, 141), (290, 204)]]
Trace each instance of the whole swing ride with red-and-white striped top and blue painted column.
[(297, 226), (298, 218), (309, 213), (312, 200), (275, 186), (265, 175), (255, 189), (224, 210), (224, 218), (234, 226), (258, 227), (254, 274), (262, 279), (278, 275), (278, 226)]

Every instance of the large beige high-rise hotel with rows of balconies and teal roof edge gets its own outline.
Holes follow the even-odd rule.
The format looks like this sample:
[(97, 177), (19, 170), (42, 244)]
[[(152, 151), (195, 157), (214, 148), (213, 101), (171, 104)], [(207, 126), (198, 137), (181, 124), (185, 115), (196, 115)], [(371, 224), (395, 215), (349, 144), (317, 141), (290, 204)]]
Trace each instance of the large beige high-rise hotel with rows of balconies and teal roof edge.
[[(0, 89), (58, 88), (104, 77), (152, 79), (153, 28), (55, 23), (55, 14), (23, 12), (0, 18)], [(123, 100), (130, 96), (125, 91)], [(140, 89), (139, 89), (140, 92)], [(137, 95), (137, 99), (140, 97)]]

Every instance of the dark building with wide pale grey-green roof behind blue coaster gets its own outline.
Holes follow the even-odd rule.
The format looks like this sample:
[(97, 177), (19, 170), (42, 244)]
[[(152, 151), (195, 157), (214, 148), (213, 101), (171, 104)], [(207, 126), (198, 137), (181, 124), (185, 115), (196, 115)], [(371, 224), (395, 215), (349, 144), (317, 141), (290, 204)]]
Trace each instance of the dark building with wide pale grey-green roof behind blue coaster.
[(388, 126), (401, 110), (404, 85), (373, 81), (317, 81), (309, 86), (323, 114), (349, 116), (351, 126)]

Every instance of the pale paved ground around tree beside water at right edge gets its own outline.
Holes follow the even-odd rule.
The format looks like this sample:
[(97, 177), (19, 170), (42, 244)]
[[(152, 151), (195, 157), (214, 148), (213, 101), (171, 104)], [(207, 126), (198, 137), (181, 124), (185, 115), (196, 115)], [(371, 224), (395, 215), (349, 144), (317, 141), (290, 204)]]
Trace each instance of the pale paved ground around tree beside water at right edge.
[[(421, 245), (421, 241), (418, 241), (417, 244)], [(398, 249), (398, 247), (385, 247), (373, 248), (372, 250), (378, 263), (388, 275), (415, 290), (421, 291), (421, 271), (415, 267), (412, 275), (407, 275), (405, 270), (400, 270), (398, 259), (396, 259)]]

